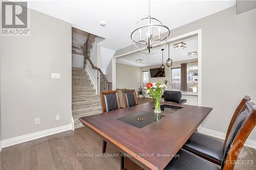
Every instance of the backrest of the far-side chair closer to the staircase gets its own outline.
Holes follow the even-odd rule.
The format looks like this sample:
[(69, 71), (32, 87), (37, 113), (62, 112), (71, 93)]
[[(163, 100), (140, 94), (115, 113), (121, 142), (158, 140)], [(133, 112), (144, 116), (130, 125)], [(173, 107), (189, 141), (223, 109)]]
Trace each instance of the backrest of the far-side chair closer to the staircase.
[(110, 112), (112, 110), (121, 109), (117, 90), (101, 91), (100, 100), (102, 112)]

